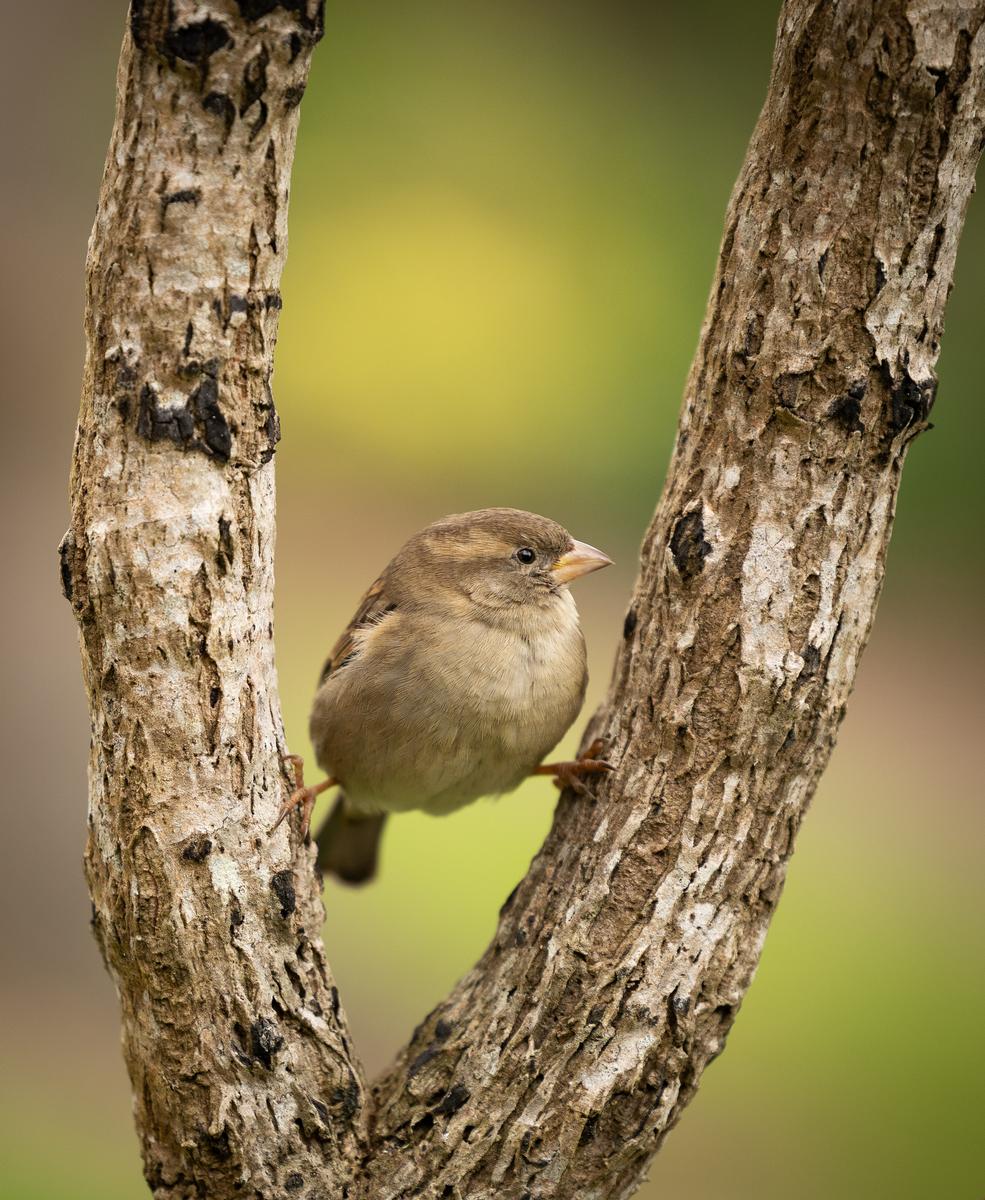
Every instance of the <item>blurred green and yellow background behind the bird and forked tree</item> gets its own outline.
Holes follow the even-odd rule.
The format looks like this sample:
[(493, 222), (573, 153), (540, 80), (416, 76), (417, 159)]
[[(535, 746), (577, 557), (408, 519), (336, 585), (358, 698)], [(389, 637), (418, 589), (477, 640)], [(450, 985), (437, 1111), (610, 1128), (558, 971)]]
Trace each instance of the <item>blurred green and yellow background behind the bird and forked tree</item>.
[[(330, 0), (275, 379), (277, 650), (295, 750), (366, 583), (421, 524), (486, 504), (547, 512), (617, 559), (578, 589), (597, 702), (776, 8)], [(108, 0), (7, 6), (0, 52), (11, 1200), (145, 1194), (88, 930), (88, 725), (54, 556), (124, 14)], [(728, 1050), (644, 1198), (985, 1192), (984, 281), (973, 202), (937, 428), (907, 466), (840, 744)], [(534, 781), (443, 821), (395, 821), (377, 884), (329, 886), (325, 937), (371, 1070), (484, 948), (554, 794)]]

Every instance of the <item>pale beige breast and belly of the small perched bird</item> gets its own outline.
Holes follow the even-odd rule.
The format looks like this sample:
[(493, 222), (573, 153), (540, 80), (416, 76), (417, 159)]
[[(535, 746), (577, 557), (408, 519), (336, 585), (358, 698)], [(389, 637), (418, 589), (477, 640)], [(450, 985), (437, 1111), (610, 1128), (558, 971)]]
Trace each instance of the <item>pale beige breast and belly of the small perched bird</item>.
[(311, 718), (318, 762), (354, 812), (452, 812), (511, 791), (558, 743), (587, 680), (575, 602), (564, 588), (524, 620), (521, 637), (395, 612), (361, 635)]

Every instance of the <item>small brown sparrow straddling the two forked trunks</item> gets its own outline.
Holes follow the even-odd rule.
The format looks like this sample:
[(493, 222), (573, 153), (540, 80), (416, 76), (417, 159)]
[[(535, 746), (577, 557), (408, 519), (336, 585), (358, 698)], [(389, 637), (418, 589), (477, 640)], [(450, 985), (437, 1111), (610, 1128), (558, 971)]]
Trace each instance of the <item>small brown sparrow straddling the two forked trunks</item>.
[(585, 642), (569, 584), (612, 559), (547, 517), (492, 508), (416, 533), (373, 582), (318, 679), (311, 742), (326, 778), (294, 791), (308, 836), (316, 798), (341, 792), (318, 832), (318, 866), (347, 883), (377, 870), (388, 814), (444, 815), (528, 775), (584, 792), (612, 769), (593, 743), (543, 762), (582, 707)]

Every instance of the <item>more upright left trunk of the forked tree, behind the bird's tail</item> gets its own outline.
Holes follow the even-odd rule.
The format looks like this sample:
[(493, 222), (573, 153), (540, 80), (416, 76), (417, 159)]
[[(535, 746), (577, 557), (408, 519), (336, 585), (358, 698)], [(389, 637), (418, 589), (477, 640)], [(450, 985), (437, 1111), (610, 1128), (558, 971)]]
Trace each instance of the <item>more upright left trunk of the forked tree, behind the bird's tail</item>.
[(312, 856), (266, 836), (288, 787), (269, 378), (320, 32), (313, 2), (134, 2), (90, 242), (62, 578), (94, 925), (160, 1196), (340, 1194), (361, 1138)]

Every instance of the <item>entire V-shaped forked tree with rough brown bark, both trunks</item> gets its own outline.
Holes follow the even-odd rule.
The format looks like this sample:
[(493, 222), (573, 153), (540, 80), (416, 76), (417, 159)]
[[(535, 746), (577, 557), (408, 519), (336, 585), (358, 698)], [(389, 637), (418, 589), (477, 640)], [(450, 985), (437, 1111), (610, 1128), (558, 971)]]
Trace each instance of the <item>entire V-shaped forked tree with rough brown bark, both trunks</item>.
[[(210, 16), (203, 16), (205, 11)], [(86, 853), (161, 1198), (611, 1198), (722, 1049), (878, 596), (985, 130), (985, 2), (789, 0), (663, 498), (493, 944), (368, 1099), (287, 787), (268, 388), (304, 4), (134, 6), (66, 589)], [(292, 835), (293, 839), (293, 835)]]

